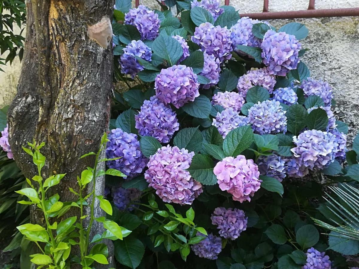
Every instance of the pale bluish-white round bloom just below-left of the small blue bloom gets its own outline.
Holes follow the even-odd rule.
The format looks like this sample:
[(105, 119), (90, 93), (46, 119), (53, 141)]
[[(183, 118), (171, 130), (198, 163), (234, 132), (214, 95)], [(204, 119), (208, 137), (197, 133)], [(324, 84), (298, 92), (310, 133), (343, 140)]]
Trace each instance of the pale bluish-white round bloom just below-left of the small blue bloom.
[(248, 121), (259, 135), (286, 132), (287, 117), (278, 101), (265, 100), (248, 109)]

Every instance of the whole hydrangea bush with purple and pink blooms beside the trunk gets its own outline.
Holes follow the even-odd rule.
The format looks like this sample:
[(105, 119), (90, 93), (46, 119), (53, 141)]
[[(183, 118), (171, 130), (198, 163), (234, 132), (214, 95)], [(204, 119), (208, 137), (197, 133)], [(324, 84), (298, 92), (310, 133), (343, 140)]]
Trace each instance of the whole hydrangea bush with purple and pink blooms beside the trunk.
[(356, 160), (331, 86), (305, 64), (307, 28), (240, 18), (219, 0), (164, 3), (115, 10), (125, 24), (113, 24), (118, 93), (106, 153), (122, 157), (108, 166), (127, 179), (107, 183), (119, 222), (139, 223), (137, 241), (124, 241), (141, 248), (129, 254), (135, 264), (117, 261), (347, 268), (350, 253), (311, 221), (331, 216), (321, 184), (355, 179), (343, 164)]

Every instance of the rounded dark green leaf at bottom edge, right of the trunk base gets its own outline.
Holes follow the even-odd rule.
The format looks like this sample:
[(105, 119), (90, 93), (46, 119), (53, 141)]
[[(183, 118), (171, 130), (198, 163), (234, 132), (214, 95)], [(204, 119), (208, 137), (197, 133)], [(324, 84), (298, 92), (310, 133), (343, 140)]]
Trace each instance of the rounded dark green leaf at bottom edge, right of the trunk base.
[(134, 237), (126, 237), (123, 240), (116, 240), (115, 257), (116, 260), (132, 269), (135, 269), (141, 262), (145, 253), (145, 246)]

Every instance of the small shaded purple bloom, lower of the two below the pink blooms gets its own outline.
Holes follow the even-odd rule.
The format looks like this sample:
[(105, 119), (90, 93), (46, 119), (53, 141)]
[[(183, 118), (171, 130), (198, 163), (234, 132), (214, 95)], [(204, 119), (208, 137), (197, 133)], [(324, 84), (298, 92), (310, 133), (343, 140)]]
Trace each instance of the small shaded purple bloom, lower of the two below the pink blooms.
[[(203, 233), (197, 232), (197, 236), (205, 236)], [(200, 258), (206, 258), (210, 260), (216, 260), (218, 254), (222, 251), (222, 240), (218, 236), (214, 236), (210, 233), (206, 239), (202, 240), (198, 244), (191, 246), (192, 251)]]

